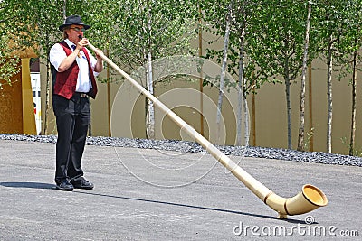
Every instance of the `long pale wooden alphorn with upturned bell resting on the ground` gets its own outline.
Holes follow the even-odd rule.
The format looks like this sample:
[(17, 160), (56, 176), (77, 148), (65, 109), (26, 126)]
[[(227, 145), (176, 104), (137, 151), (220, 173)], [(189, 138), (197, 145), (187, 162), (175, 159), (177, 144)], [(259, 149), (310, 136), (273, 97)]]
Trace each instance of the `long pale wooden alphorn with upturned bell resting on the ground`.
[(242, 181), (243, 184), (252, 191), (252, 193), (254, 193), (259, 199), (262, 199), (262, 201), (271, 209), (277, 211), (277, 218), (287, 218), (288, 215), (304, 214), (327, 205), (328, 200), (323, 191), (310, 184), (304, 185), (301, 191), (292, 198), (286, 199), (278, 196), (217, 149), (214, 144), (211, 144), (202, 134), (196, 132), (191, 125), (188, 125), (181, 117), (177, 116), (171, 109), (159, 101), (157, 97), (154, 97), (148, 92), (148, 90), (138, 84), (135, 79), (132, 79), (125, 71), (121, 70), (100, 50), (96, 49), (91, 43), (88, 43), (87, 46), (90, 47), (92, 51), (95, 51), (102, 60), (105, 60), (110, 67), (119, 72), (119, 74), (127, 79), (135, 88), (138, 88), (138, 91), (142, 95), (148, 97), (148, 99), (151, 100), (156, 107), (160, 108), (168, 117), (170, 117), (172, 121), (176, 123), (176, 125), (183, 129), (186, 134), (195, 138), (198, 144), (201, 144), (208, 153), (213, 155), (218, 162), (222, 163), (228, 171), (231, 171), (237, 179)]

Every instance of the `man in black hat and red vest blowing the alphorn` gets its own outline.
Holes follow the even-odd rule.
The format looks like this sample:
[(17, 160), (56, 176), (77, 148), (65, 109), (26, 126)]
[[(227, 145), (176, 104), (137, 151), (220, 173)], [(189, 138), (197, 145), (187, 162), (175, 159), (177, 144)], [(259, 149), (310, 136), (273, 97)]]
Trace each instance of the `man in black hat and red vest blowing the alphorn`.
[(71, 15), (59, 27), (63, 41), (52, 46), (52, 107), (56, 117), (58, 140), (56, 144), (55, 183), (58, 190), (93, 189), (83, 177), (81, 158), (90, 124), (88, 97), (97, 95), (95, 77), (103, 70), (103, 61), (97, 60), (85, 46), (84, 31), (90, 25), (81, 17)]

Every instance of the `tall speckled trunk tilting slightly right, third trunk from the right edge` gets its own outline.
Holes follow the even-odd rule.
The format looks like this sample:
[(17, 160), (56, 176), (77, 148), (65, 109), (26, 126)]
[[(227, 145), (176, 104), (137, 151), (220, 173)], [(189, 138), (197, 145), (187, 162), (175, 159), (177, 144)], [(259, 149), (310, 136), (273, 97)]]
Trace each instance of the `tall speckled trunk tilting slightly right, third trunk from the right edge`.
[(301, 70), (301, 87), (300, 87), (300, 132), (298, 136), (298, 151), (304, 151), (304, 112), (305, 112), (305, 92), (306, 92), (306, 72), (307, 72), (307, 60), (308, 60), (308, 47), (310, 43), (310, 13), (311, 13), (311, 3), (308, 4), (308, 14), (307, 14), (307, 23), (306, 23), (306, 35), (305, 35), (305, 45), (304, 45), (304, 56), (303, 56), (303, 67)]

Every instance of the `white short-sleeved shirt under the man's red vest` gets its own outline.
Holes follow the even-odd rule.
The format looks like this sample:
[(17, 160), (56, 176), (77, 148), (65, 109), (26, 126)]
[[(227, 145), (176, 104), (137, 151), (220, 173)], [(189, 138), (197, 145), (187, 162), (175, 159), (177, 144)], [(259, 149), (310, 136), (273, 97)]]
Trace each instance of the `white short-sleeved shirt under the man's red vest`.
[[(71, 45), (75, 45), (69, 39), (66, 39), (65, 42), (68, 44), (68, 46), (70, 48), (71, 48)], [(72, 48), (71, 48), (71, 51), (73, 51)], [(93, 70), (94, 76), (97, 76), (97, 75), (99, 75), (99, 73), (94, 71), (97, 60), (90, 54), (90, 51), (88, 51), (88, 53), (90, 56), (91, 70)], [(80, 70), (78, 73), (78, 79), (77, 79), (77, 85), (75, 87), (75, 91), (87, 93), (90, 91), (90, 88), (91, 88), (88, 61), (87, 61), (87, 58), (85, 57), (85, 54), (83, 51), (80, 51), (80, 54), (81, 54), (81, 57), (77, 56), (77, 58), (76, 58), (76, 61), (77, 61), (77, 64), (78, 64), (78, 67)], [(49, 53), (49, 60), (52, 63), (52, 65), (54, 66), (55, 70), (58, 71), (58, 68), (62, 63), (62, 60), (64, 60), (65, 58), (67, 58), (67, 55), (66, 55), (65, 51), (63, 50), (61, 44), (55, 43), (52, 46), (52, 49)]]

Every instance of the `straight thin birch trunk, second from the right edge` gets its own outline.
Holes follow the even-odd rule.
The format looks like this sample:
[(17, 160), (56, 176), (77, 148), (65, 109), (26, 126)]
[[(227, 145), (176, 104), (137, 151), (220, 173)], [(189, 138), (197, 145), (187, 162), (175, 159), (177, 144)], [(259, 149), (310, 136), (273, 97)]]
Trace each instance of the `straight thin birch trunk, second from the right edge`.
[(327, 100), (328, 100), (328, 114), (327, 114), (327, 153), (332, 153), (332, 35), (329, 35), (328, 56), (327, 56)]

